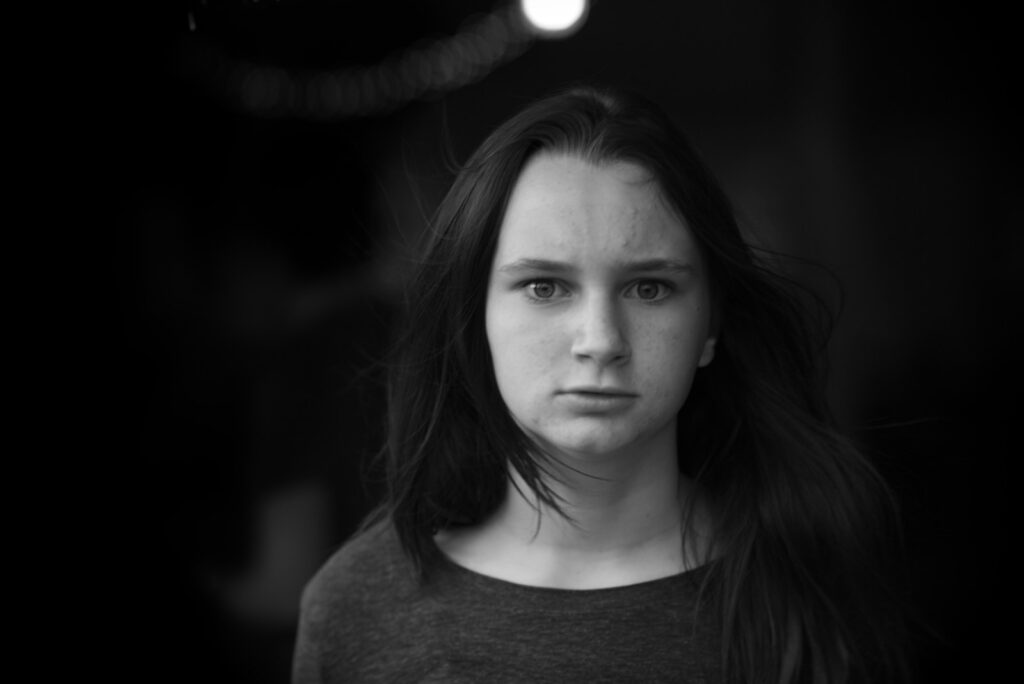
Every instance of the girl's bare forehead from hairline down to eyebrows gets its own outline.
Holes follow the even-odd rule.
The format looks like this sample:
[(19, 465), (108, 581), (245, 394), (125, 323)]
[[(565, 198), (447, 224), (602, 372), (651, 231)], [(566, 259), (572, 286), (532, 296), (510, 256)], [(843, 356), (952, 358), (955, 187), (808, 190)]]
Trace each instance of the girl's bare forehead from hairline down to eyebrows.
[(532, 158), (516, 181), (496, 258), (698, 256), (685, 222), (642, 166), (547, 153)]

